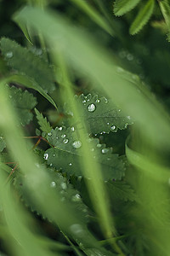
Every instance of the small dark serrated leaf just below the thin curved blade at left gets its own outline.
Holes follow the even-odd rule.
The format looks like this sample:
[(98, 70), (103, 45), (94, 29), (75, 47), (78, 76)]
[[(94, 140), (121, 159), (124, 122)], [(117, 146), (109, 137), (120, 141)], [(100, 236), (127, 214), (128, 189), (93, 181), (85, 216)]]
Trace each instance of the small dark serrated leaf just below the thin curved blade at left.
[(27, 90), (21, 90), (14, 86), (8, 86), (8, 96), (18, 113), (18, 124), (28, 125), (33, 119), (31, 109), (37, 105), (37, 99)]

